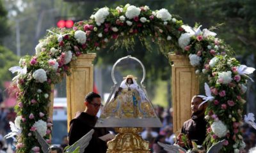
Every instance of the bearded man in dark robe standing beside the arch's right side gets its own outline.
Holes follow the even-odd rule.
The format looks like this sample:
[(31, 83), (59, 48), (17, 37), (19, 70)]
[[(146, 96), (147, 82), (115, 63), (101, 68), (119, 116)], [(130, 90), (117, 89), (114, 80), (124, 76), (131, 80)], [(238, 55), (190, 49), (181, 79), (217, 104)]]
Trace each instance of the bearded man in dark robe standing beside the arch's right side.
[(181, 140), (182, 133), (187, 136), (190, 147), (192, 147), (191, 141), (196, 142), (197, 145), (202, 145), (205, 140), (207, 122), (204, 119), (204, 113), (207, 108), (207, 103), (204, 103), (198, 108), (202, 101), (203, 99), (198, 96), (194, 96), (191, 100), (191, 119), (184, 122), (181, 133), (177, 136), (177, 144), (180, 145), (180, 147), (185, 147), (184, 142)]

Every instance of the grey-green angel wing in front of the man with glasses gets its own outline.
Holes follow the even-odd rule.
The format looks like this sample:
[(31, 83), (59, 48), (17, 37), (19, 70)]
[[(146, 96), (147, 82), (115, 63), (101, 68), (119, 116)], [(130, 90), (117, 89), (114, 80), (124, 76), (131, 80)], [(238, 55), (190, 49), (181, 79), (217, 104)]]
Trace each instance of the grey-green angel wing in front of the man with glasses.
[(86, 149), (86, 147), (89, 145), (90, 140), (92, 139), (93, 133), (94, 133), (94, 129), (91, 129), (91, 131), (86, 133), (86, 135), (84, 135), (81, 139), (77, 140), (77, 142), (75, 142), (73, 145), (68, 147), (68, 149), (66, 150), (66, 153), (73, 152), (74, 150), (76, 150), (77, 147), (80, 147), (79, 148), (80, 152), (84, 152), (84, 149)]

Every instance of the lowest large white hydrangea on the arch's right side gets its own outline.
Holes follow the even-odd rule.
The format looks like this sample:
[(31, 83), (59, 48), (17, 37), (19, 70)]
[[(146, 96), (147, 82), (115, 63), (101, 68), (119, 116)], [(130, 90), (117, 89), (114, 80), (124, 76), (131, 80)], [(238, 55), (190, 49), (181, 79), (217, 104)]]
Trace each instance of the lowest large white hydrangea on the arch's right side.
[(211, 125), (211, 128), (212, 132), (219, 138), (222, 138), (227, 134), (227, 126), (225, 126), (221, 120), (214, 121)]

